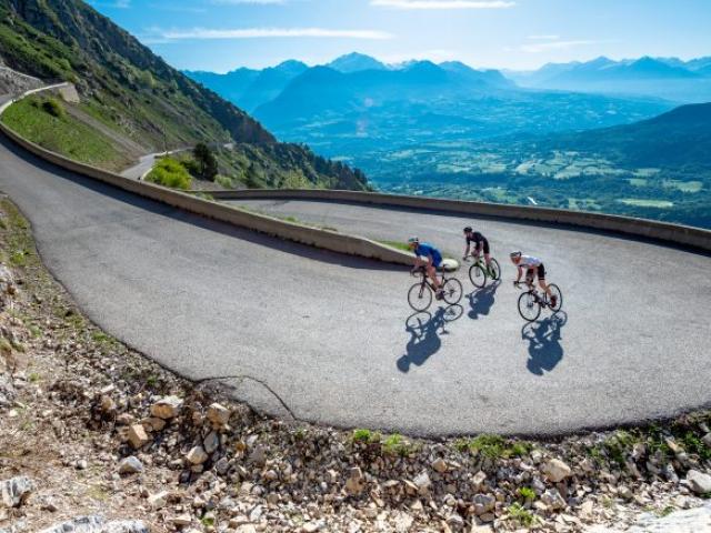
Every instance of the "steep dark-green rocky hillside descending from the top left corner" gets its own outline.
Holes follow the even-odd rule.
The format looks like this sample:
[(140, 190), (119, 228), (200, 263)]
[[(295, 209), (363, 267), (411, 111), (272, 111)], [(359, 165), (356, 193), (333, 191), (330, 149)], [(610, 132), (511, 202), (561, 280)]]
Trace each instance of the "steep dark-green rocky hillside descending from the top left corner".
[(80, 0), (0, 0), (0, 56), (21, 72), (69, 80), (83, 111), (146, 151), (234, 141), (221, 172), (262, 185), (362, 189), (364, 178), (276, 138), (247, 113), (168, 66)]

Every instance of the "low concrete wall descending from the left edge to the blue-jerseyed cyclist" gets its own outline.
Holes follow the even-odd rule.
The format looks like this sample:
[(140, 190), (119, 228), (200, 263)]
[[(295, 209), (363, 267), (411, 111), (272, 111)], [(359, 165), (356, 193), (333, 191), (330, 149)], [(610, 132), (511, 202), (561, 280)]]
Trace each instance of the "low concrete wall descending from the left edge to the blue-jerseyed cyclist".
[[(59, 87), (66, 87), (66, 84), (62, 83), (59, 86), (46, 87), (41, 90), (52, 90), (58, 89)], [(11, 103), (36, 92), (40, 92), (40, 90), (28, 91), (19, 98), (6, 102), (0, 107), (0, 115)], [(131, 180), (119, 174), (114, 174), (113, 172), (108, 172), (89, 164), (73, 161), (28, 141), (8, 128), (2, 123), (2, 121), (0, 121), (0, 131), (24, 150), (33, 153), (44, 161), (56, 164), (57, 167), (191, 213), (332, 252), (374, 259), (395, 264), (412, 265), (413, 263), (413, 255), (385, 247), (375, 241), (371, 241), (370, 239), (339, 233), (336, 231), (321, 230), (274, 219), (263, 214), (248, 212), (226, 204), (203, 200), (194, 194), (179, 192), (153, 183)]]

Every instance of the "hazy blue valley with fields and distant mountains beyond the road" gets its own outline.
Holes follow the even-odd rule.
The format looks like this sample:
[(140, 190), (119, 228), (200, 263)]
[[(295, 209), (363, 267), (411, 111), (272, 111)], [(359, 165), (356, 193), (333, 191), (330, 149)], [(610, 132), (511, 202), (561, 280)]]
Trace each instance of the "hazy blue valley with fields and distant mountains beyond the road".
[(384, 191), (711, 227), (707, 108), (672, 115), (682, 119), (671, 144), (667, 125), (644, 122), (710, 101), (710, 63), (601, 58), (522, 73), (353, 53), (320, 67), (188, 74)]

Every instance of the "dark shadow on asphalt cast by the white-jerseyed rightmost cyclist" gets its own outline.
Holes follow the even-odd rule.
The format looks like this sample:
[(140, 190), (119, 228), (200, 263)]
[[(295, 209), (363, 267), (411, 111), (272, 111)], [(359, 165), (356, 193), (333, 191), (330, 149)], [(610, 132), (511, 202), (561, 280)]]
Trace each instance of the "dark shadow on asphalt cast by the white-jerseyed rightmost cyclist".
[(551, 372), (563, 359), (561, 330), (568, 322), (565, 312), (560, 311), (540, 322), (531, 322), (521, 329), (521, 339), (529, 341), (529, 360), (525, 366), (535, 375)]

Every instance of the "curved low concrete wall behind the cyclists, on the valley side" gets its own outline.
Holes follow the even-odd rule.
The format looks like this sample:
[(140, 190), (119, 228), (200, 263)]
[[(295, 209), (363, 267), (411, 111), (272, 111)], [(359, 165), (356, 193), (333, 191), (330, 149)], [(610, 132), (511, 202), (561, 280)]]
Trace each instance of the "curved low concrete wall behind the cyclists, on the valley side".
[(239, 191), (210, 191), (210, 194), (216, 200), (317, 200), (439, 211), (462, 215), (490, 217), (528, 222), (554, 223), (575, 228), (610, 231), (625, 235), (663, 241), (682, 247), (691, 247), (707, 252), (711, 251), (711, 231), (709, 230), (647, 219), (635, 219), (632, 217), (591, 213), (587, 211), (333, 190), (246, 189)]

